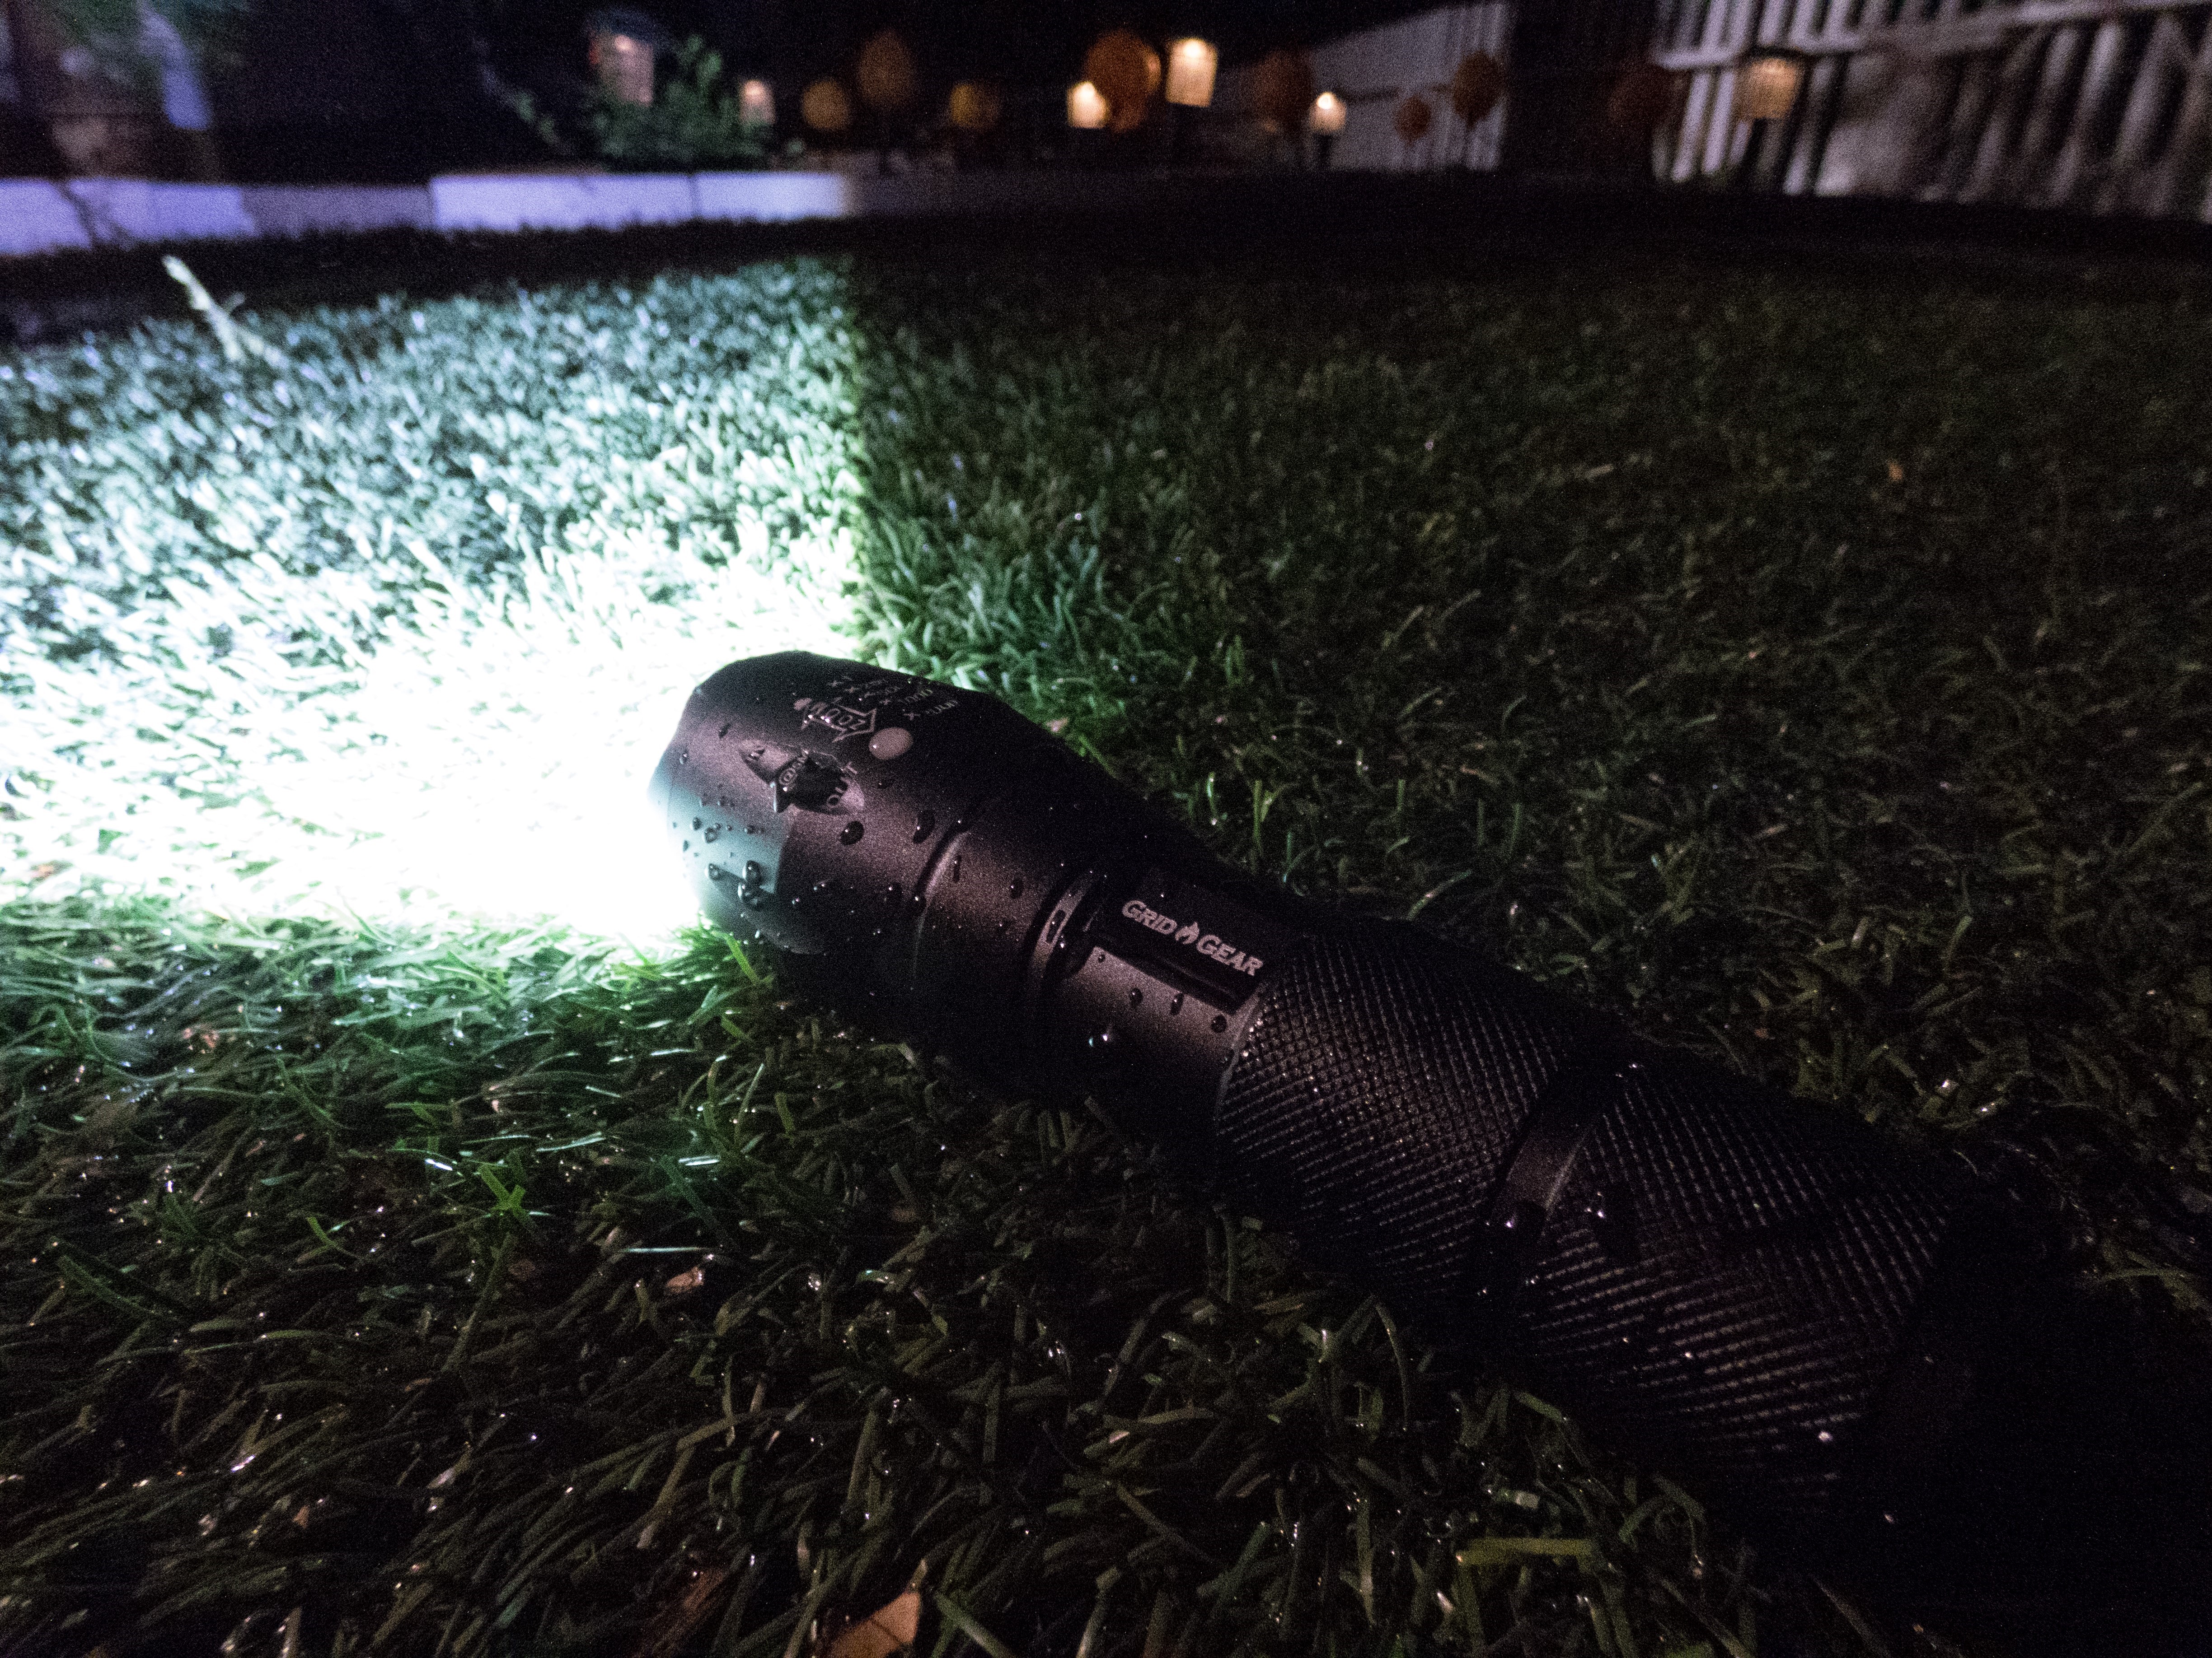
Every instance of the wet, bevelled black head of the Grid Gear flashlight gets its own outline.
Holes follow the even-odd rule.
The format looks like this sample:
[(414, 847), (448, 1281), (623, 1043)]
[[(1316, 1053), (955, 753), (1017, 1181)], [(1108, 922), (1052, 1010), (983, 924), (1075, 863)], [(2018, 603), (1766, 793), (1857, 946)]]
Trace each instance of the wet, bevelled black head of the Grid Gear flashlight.
[(1102, 864), (1203, 858), (995, 696), (803, 652), (699, 685), (653, 800), (710, 922), (885, 1032), (962, 1046), (1033, 993)]

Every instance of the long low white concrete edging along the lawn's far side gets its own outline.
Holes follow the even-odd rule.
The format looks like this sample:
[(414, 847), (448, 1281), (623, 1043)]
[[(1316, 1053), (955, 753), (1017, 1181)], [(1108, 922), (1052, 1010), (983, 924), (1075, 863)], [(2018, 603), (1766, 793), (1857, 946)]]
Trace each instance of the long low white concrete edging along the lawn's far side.
[(1144, 206), (1161, 183), (1099, 172), (458, 172), (427, 186), (0, 179), (0, 256), (361, 230), (624, 230), (1113, 210)]

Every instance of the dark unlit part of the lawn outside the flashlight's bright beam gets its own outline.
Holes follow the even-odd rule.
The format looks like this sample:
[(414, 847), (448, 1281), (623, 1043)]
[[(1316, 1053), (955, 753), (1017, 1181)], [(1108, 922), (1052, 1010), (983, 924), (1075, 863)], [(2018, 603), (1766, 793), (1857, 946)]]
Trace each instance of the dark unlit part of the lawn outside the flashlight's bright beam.
[[(847, 279), (856, 650), (2205, 1318), (2192, 283)], [(55, 442), (126, 429), (38, 360)], [(933, 1651), (1876, 1649), (1095, 1114), (717, 940), (0, 928), (0, 1651), (776, 1658), (918, 1570)]]

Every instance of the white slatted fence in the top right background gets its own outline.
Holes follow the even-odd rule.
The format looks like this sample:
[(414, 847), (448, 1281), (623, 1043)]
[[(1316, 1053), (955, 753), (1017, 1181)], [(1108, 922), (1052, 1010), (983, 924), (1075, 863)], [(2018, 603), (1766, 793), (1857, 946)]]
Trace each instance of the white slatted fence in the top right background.
[(1677, 0), (1659, 177), (1734, 175), (1747, 46), (1809, 57), (1750, 188), (2212, 219), (2212, 0)]

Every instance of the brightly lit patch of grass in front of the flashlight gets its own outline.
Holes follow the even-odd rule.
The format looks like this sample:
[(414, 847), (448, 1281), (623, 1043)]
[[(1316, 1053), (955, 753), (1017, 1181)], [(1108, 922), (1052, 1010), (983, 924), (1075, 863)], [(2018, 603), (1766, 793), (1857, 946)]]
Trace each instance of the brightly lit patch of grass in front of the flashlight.
[(841, 292), (763, 267), (11, 367), (0, 893), (679, 922), (639, 858), (677, 701), (836, 648), (849, 604)]

